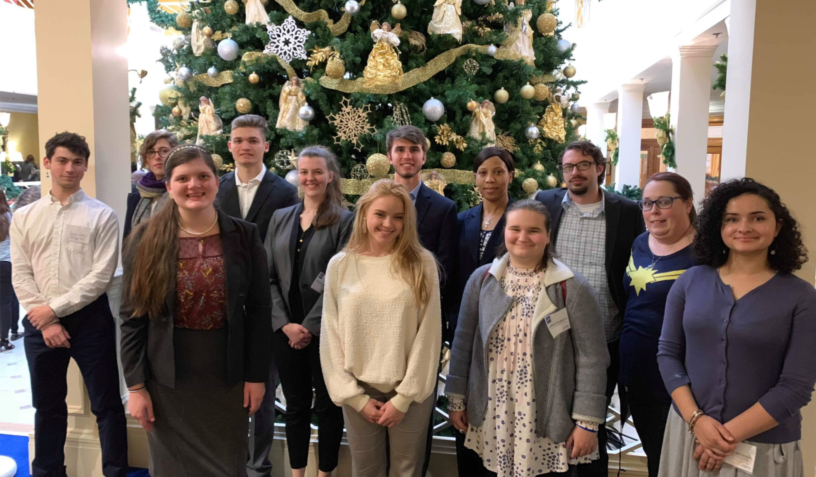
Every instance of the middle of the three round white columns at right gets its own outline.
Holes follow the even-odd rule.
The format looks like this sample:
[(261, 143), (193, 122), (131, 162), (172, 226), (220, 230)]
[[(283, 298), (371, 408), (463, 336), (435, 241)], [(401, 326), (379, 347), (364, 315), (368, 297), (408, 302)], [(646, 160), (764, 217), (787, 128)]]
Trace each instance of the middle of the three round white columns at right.
[(626, 83), (618, 88), (618, 166), (615, 189), (641, 183), (641, 126), (645, 83)]

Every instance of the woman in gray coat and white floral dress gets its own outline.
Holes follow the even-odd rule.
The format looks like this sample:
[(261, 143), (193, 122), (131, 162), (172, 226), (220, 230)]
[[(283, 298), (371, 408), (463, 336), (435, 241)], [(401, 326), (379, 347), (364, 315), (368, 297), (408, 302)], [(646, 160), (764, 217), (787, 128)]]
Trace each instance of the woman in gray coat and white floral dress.
[(610, 358), (592, 285), (550, 254), (538, 201), (510, 205), (504, 245), (462, 297), (446, 394), (485, 475), (559, 475), (598, 457)]

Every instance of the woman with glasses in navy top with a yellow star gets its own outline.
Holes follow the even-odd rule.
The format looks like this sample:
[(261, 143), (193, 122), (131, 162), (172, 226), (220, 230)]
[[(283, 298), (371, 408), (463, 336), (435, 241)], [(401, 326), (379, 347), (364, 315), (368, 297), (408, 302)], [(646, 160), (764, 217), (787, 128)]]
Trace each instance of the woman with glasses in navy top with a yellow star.
[(632, 244), (623, 275), (627, 303), (620, 333), (620, 378), (649, 465), (657, 477), (663, 431), (672, 406), (658, 368), (658, 340), (663, 328), (666, 296), (677, 277), (696, 265), (694, 194), (680, 174), (660, 172), (643, 189), (646, 232)]

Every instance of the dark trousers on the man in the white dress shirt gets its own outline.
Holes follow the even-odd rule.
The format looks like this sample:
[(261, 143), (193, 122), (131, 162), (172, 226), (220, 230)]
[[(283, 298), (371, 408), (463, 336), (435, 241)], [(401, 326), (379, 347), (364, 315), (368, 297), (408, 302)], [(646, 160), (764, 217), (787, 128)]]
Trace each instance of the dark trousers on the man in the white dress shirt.
[(106, 477), (124, 477), (127, 473), (127, 434), (125, 409), (119, 394), (119, 371), (116, 362), (116, 329), (108, 304), (102, 294), (82, 310), (60, 318), (68, 331), (69, 348), (47, 347), (42, 333), (24, 320), (25, 357), (29, 361), (31, 394), (34, 409), (33, 477), (64, 477), (65, 431), (68, 407), (65, 374), (73, 358), (91, 398), (91, 412), (96, 416), (102, 447), (102, 473)]

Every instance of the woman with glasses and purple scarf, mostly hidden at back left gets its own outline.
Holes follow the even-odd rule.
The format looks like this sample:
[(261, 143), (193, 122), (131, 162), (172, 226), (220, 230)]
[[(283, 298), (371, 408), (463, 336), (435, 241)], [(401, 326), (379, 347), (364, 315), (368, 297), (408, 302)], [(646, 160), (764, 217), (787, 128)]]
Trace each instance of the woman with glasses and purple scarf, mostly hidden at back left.
[(164, 179), (164, 161), (179, 142), (169, 130), (154, 130), (144, 138), (139, 155), (143, 164), (148, 166), (148, 173), (136, 183), (136, 192), (127, 194), (127, 212), (125, 214), (125, 233), (122, 243), (131, 229), (139, 225), (158, 210), (167, 201), (167, 188)]

